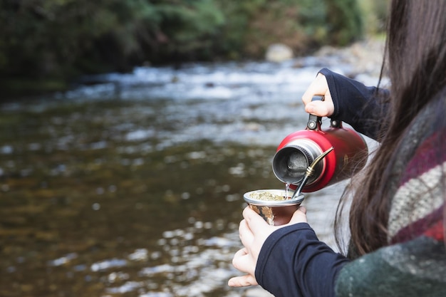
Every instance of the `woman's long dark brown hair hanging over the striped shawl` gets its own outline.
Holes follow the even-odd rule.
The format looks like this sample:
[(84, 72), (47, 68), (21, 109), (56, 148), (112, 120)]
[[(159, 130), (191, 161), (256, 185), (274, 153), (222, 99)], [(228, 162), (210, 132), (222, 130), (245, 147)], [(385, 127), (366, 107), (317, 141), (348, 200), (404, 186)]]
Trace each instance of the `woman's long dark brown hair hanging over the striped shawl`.
[(353, 179), (352, 256), (388, 244), (388, 214), (395, 191), (395, 185), (388, 181), (395, 179), (398, 147), (413, 118), (446, 85), (445, 16), (445, 0), (393, 0), (390, 4), (385, 51), (391, 81), (390, 105), (383, 113), (388, 125), (382, 131), (381, 144), (361, 182)]

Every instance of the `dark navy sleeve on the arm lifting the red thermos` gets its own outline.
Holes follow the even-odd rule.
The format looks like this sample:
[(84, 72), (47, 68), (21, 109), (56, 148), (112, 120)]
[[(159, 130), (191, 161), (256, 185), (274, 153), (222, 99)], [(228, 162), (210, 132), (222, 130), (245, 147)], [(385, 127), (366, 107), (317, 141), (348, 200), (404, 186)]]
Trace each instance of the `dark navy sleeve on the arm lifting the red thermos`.
[(377, 139), (382, 127), (388, 123), (389, 91), (367, 87), (356, 80), (347, 78), (327, 68), (319, 71), (325, 75), (334, 103), (330, 118), (350, 124), (358, 132)]

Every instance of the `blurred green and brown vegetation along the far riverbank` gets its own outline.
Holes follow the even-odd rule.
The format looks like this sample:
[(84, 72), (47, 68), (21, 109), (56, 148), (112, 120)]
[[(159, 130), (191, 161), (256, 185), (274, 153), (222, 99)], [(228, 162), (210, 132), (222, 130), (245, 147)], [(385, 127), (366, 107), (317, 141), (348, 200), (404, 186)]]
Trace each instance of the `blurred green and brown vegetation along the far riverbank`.
[[(388, 0), (2, 0), (0, 91), (63, 90), (139, 65), (296, 55), (385, 27)], [(0, 94), (1, 95), (1, 94)]]

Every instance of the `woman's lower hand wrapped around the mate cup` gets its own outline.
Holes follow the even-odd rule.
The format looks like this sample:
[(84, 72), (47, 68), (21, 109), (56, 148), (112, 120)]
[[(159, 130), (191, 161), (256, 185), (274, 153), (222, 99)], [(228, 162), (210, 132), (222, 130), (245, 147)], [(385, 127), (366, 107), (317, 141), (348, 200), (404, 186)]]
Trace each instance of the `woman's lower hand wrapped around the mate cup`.
[(247, 273), (229, 279), (228, 285), (234, 287), (257, 285), (255, 271), (257, 259), (259, 258), (261, 246), (271, 233), (284, 226), (306, 222), (306, 209), (299, 207), (294, 212), (291, 221), (281, 226), (271, 226), (262, 219), (254, 210), (246, 207), (243, 211), (244, 219), (240, 222), (239, 235), (244, 246), (237, 251), (232, 259), (232, 265), (239, 271)]

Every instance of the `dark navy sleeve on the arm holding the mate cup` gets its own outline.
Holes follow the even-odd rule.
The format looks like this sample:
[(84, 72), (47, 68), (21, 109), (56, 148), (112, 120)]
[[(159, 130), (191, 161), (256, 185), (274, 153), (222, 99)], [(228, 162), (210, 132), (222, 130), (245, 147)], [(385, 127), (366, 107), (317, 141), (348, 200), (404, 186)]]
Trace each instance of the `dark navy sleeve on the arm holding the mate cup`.
[(256, 280), (276, 297), (331, 297), (338, 271), (348, 261), (319, 241), (308, 224), (294, 224), (266, 239), (256, 264)]

